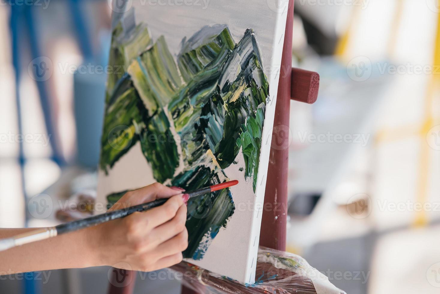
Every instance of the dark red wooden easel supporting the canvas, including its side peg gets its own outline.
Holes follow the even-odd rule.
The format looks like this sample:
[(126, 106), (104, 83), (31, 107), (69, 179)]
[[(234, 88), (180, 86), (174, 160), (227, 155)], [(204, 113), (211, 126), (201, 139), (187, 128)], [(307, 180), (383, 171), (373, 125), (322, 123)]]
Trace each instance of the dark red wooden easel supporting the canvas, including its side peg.
[[(304, 103), (314, 103), (318, 97), (319, 74), (308, 70), (292, 68), (293, 3), (289, 0), (286, 33), (282, 49), (278, 96), (275, 106), (274, 132), (272, 133), (271, 154), (264, 204), (279, 209), (264, 210), (261, 220), (260, 245), (276, 250), (286, 250), (287, 223), (287, 178), (289, 167), (289, 118), (290, 99)], [(277, 128), (278, 127), (278, 128)], [(275, 138), (281, 139), (274, 140)], [(284, 147), (286, 146), (286, 147)], [(136, 272), (125, 271), (117, 281), (115, 275), (110, 283), (109, 294), (131, 294), (136, 280)], [(197, 294), (182, 287), (182, 294)]]

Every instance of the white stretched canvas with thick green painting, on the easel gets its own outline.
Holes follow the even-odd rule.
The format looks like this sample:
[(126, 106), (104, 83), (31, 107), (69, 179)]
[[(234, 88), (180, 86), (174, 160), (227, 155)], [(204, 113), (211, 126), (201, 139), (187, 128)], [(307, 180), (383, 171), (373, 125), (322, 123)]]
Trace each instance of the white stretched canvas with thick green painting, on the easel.
[(243, 283), (255, 279), (286, 25), (272, 1), (125, 1), (113, 15), (98, 198), (239, 180), (190, 199), (183, 256)]

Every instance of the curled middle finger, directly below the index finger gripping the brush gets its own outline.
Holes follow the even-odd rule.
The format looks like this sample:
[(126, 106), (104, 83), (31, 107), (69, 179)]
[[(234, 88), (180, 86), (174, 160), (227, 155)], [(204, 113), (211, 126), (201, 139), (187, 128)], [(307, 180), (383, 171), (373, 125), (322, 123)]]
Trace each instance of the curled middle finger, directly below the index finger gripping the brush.
[(176, 216), (172, 220), (167, 221), (165, 224), (161, 224), (154, 228), (149, 235), (149, 239), (152, 240), (152, 246), (158, 246), (161, 243), (171, 239), (185, 230), (185, 222), (187, 220), (187, 206), (180, 206), (177, 210)]

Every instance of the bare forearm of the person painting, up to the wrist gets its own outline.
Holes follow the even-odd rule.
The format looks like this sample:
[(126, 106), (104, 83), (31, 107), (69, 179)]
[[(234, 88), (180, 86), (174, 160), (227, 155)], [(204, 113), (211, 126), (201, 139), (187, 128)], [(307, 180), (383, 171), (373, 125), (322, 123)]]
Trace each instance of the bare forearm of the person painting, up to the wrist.
[[(0, 238), (32, 230), (0, 229)], [(92, 227), (0, 251), (0, 274), (100, 265), (98, 241), (99, 234)]]

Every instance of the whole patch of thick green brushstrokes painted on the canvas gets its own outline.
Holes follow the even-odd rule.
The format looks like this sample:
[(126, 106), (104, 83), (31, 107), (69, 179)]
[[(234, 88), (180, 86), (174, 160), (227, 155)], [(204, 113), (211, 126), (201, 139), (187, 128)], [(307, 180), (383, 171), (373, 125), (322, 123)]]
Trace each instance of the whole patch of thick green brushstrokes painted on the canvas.
[[(132, 121), (129, 125), (135, 132), (128, 138), (131, 141), (127, 150), (140, 141), (154, 178), (187, 191), (229, 180), (224, 169), (237, 163), (235, 158), (241, 149), (245, 168), (239, 171), (253, 180), (255, 191), (269, 85), (253, 31), (247, 29), (235, 44), (227, 26), (205, 26), (182, 40), (175, 62), (164, 37), (153, 44), (150, 35), (143, 38), (139, 34), (147, 34), (146, 27), (136, 27), (128, 32), (123, 26), (114, 30), (110, 64), (127, 62), (126, 48), (138, 55), (128, 58), (125, 76), (109, 77), (106, 111), (113, 118), (106, 120), (105, 128), (114, 125), (115, 117)], [(140, 41), (131, 46), (121, 40)], [(145, 46), (142, 50), (141, 43)], [(124, 83), (132, 87), (126, 95), (121, 94), (126, 91)], [(121, 104), (119, 96), (125, 104)], [(131, 108), (125, 105), (132, 104), (139, 107), (138, 113), (126, 113)], [(115, 113), (110, 111), (112, 105), (119, 105), (120, 113), (114, 110), (115, 106)], [(173, 136), (172, 129), (180, 138)], [(178, 154), (177, 144), (182, 154)], [(127, 152), (111, 152), (108, 145), (103, 140), (103, 150), (110, 154), (102, 159), (104, 170)], [(180, 162), (183, 170), (175, 174)], [(115, 202), (122, 195), (109, 195), (108, 200)], [(187, 218), (189, 246), (184, 257), (201, 259), (234, 210), (229, 189), (191, 199)]]

